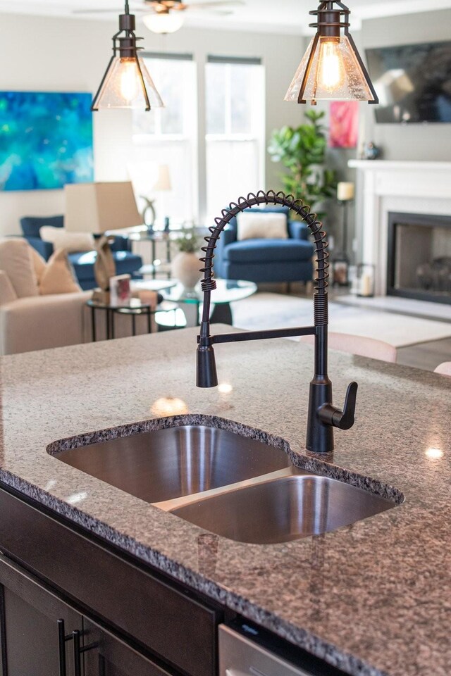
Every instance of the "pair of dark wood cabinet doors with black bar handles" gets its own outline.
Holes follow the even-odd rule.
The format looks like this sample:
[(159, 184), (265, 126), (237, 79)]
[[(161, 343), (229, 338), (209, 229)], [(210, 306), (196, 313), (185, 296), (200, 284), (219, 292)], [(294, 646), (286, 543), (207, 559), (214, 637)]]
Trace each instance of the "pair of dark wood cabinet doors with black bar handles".
[(0, 555), (1, 676), (173, 676)]

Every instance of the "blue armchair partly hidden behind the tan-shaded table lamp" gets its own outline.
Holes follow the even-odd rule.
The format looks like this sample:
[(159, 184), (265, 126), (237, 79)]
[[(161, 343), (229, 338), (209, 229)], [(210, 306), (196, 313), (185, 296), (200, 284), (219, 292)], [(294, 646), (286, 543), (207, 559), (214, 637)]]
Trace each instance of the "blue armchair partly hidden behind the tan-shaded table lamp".
[[(54, 251), (54, 247), (50, 242), (44, 242), (39, 236), (39, 228), (43, 225), (63, 227), (64, 217), (62, 215), (49, 217), (25, 216), (20, 219), (23, 237), (41, 254), (42, 258), (48, 261)], [(138, 273), (138, 270), (142, 266), (142, 258), (132, 253), (132, 245), (127, 237), (115, 237), (113, 244), (111, 244), (111, 250), (113, 251), (113, 258), (116, 263), (117, 275), (128, 274), (134, 280), (142, 279), (142, 275)], [(85, 291), (94, 289), (97, 286), (94, 279), (94, 261), (96, 255), (95, 251), (81, 251), (80, 253), (68, 254), (78, 283)]]

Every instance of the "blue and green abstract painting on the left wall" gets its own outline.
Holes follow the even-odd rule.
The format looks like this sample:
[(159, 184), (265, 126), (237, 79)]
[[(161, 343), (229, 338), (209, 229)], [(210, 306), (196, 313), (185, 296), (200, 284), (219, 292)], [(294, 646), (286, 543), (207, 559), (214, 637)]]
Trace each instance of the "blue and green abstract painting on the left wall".
[(91, 94), (0, 92), (0, 190), (93, 180)]

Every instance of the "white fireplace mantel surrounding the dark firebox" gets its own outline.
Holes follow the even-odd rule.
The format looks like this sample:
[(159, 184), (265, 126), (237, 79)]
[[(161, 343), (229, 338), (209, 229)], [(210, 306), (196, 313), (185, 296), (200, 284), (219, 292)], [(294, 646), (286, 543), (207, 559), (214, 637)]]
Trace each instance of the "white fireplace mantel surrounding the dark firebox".
[(376, 265), (376, 293), (387, 287), (388, 213), (451, 215), (451, 162), (350, 160), (357, 169), (357, 239)]

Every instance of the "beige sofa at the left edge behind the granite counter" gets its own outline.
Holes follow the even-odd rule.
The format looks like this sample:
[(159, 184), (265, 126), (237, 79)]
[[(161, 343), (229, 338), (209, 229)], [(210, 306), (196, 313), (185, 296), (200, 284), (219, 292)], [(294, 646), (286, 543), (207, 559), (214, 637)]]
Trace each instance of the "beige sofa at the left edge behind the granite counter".
[[(21, 244), (19, 244), (19, 242)], [(10, 246), (6, 246), (10, 245)], [(0, 242), (0, 354), (13, 354), (89, 342), (92, 292), (40, 295), (31, 253), (23, 239)], [(105, 313), (96, 311), (96, 337), (106, 336)], [(137, 317), (137, 333), (147, 332), (147, 319)], [(131, 335), (131, 319), (116, 315), (116, 337)]]

